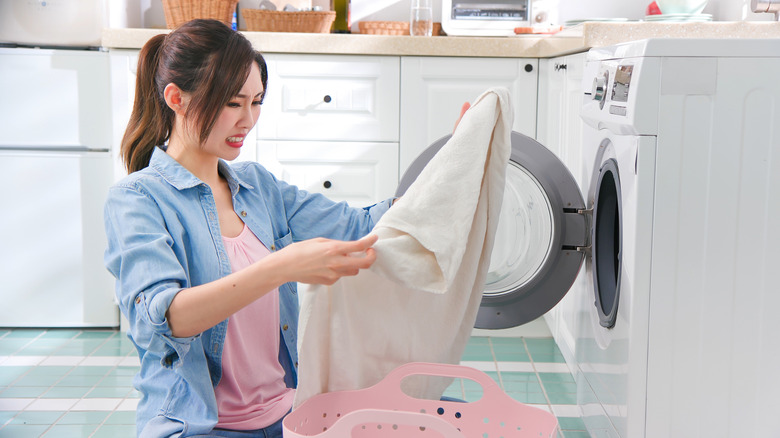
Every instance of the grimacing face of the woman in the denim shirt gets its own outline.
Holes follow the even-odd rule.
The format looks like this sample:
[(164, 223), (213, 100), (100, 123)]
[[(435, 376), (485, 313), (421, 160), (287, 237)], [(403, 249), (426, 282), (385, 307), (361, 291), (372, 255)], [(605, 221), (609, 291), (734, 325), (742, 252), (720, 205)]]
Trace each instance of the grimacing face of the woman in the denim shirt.
[(260, 69), (257, 63), (253, 62), (244, 86), (217, 116), (217, 121), (203, 145), (204, 151), (228, 161), (238, 157), (244, 137), (260, 117), (260, 103), (264, 93)]

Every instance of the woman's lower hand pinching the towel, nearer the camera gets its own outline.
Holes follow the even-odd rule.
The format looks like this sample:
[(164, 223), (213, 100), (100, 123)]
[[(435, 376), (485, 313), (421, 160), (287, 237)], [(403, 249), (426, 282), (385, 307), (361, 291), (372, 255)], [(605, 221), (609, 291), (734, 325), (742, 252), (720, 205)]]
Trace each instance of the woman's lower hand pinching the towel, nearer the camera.
[(331, 285), (371, 267), (376, 261), (371, 246), (377, 239), (375, 234), (354, 241), (316, 238), (293, 243), (274, 254), (283, 258), (279, 262), (288, 281)]

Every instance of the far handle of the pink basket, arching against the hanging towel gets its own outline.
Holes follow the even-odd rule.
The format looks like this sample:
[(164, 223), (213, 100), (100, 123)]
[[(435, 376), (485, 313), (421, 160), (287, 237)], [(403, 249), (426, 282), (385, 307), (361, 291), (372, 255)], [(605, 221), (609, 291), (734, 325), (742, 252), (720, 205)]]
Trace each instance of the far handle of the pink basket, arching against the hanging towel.
[[(425, 375), (425, 376), (439, 376), (439, 377), (453, 377), (456, 379), (470, 379), (482, 386), (482, 399), (505, 396), (504, 392), (498, 386), (498, 384), (490, 378), (487, 374), (471, 367), (464, 367), (462, 365), (451, 365), (443, 363), (428, 363), (428, 362), (410, 362), (397, 367), (390, 371), (384, 379), (382, 379), (375, 386), (383, 387), (386, 390), (394, 389), (402, 394), (401, 381), (409, 376)], [(408, 396), (407, 396), (408, 397)], [(411, 397), (414, 398), (414, 397)], [(478, 403), (476, 402), (471, 403)]]

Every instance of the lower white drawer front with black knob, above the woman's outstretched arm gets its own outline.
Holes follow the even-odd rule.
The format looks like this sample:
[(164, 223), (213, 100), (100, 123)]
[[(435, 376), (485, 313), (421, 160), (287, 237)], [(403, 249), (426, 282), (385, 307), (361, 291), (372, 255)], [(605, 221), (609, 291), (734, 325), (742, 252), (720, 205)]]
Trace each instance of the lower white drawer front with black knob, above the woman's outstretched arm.
[(390, 198), (398, 185), (397, 143), (260, 140), (258, 155), (277, 178), (353, 207)]

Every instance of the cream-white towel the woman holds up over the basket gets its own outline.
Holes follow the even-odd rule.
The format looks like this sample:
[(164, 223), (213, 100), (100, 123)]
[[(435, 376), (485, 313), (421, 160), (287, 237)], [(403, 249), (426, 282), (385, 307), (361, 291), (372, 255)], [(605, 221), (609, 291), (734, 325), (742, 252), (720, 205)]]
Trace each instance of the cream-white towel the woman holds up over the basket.
[[(457, 364), (474, 327), (510, 156), (508, 90), (483, 93), (373, 233), (377, 260), (301, 294), (295, 407), (362, 389), (408, 362)], [(449, 381), (419, 380), (438, 399)]]

